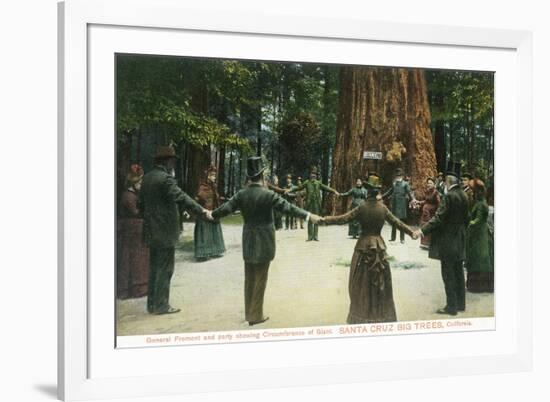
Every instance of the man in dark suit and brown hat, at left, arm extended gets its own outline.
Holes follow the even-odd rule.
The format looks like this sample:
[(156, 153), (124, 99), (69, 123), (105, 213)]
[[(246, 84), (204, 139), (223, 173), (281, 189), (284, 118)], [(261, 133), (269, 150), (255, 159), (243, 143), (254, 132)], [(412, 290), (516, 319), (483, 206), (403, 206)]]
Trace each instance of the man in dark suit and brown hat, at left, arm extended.
[(171, 174), (176, 152), (170, 146), (160, 146), (153, 170), (143, 177), (141, 205), (144, 235), (150, 250), (147, 311), (151, 314), (171, 314), (180, 311), (169, 304), (170, 280), (174, 273), (175, 245), (180, 235), (180, 211), (211, 219), (201, 207), (178, 186)]

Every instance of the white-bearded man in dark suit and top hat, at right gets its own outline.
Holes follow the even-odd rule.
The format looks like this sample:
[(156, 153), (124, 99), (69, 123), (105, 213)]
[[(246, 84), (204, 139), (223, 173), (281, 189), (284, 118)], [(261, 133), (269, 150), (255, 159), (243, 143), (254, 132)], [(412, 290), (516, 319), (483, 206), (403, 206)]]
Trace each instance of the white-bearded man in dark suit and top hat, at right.
[[(452, 164), (451, 164), (452, 166)], [(466, 309), (463, 262), (466, 228), (469, 222), (468, 197), (460, 185), (460, 164), (447, 169), (446, 193), (434, 217), (416, 233), (431, 234), (429, 257), (441, 261), (447, 305), (438, 314), (456, 315)]]

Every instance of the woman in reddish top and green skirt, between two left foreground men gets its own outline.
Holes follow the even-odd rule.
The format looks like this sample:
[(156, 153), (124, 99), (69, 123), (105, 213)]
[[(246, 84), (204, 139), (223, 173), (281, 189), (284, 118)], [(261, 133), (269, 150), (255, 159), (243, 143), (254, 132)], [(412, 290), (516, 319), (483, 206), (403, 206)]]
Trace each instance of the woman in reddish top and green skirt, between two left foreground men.
[[(206, 181), (199, 185), (196, 201), (205, 209), (213, 211), (220, 205), (220, 195), (216, 188), (217, 170), (210, 166), (206, 171)], [(195, 258), (205, 261), (221, 257), (225, 253), (222, 227), (219, 222), (197, 218), (195, 222)]]

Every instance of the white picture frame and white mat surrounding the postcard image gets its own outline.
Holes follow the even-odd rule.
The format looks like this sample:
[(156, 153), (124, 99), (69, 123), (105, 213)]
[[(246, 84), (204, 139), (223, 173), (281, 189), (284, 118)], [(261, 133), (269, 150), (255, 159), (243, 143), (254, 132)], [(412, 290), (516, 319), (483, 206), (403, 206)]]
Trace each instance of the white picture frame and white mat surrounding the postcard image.
[[(115, 31), (118, 33), (115, 34)], [(110, 38), (109, 35), (112, 35), (112, 41), (105, 40)], [(128, 37), (124, 37), (125, 35)], [(135, 37), (132, 39), (133, 35), (140, 35), (139, 40)], [(211, 349), (204, 346), (186, 346), (176, 348), (175, 352), (170, 353), (167, 353), (169, 348), (148, 348), (145, 352), (115, 351), (114, 348), (110, 349), (107, 343), (102, 343), (103, 335), (112, 337), (113, 332), (110, 332), (112, 328), (107, 324), (99, 324), (98, 320), (102, 318), (98, 315), (100, 316), (103, 309), (108, 307), (102, 306), (93, 295), (95, 292), (108, 294), (112, 289), (92, 286), (96, 283), (94, 281), (97, 281), (96, 271), (92, 267), (98, 259), (108, 261), (110, 258), (108, 252), (103, 255), (101, 247), (97, 248), (99, 246), (95, 245), (99, 244), (97, 239), (101, 238), (104, 230), (109, 229), (108, 226), (103, 227), (98, 223), (102, 221), (98, 219), (99, 216), (109, 214), (109, 211), (99, 205), (100, 200), (113, 198), (109, 198), (112, 188), (105, 189), (105, 193), (101, 192), (103, 190), (99, 193), (96, 190), (98, 178), (103, 177), (102, 172), (112, 173), (108, 165), (102, 168), (102, 164), (98, 162), (112, 156), (113, 149), (109, 148), (109, 143), (114, 147), (114, 141), (106, 137), (103, 142), (96, 142), (97, 136), (91, 137), (91, 133), (98, 127), (106, 127), (106, 130), (109, 130), (114, 124), (109, 119), (95, 119), (90, 107), (97, 102), (94, 97), (113, 97), (114, 94), (112, 87), (98, 84), (103, 77), (101, 74), (93, 75), (94, 79), (90, 77), (95, 69), (95, 60), (98, 60), (101, 54), (108, 57), (109, 54), (119, 51), (116, 46), (123, 42), (117, 42), (118, 39), (126, 41), (124, 43), (127, 52), (172, 54), (175, 48), (170, 46), (178, 46), (178, 35), (192, 35), (194, 40), (199, 41), (197, 43), (207, 45), (210, 52), (219, 52), (220, 57), (247, 56), (238, 53), (238, 47), (233, 50), (228, 50), (227, 47), (222, 49), (222, 44), (215, 44), (216, 39), (221, 41), (223, 38), (229, 38), (228, 40), (238, 42), (252, 38), (261, 43), (271, 41), (269, 43), (273, 47), (267, 47), (265, 53), (256, 54), (259, 58), (269, 58), (271, 55), (274, 60), (282, 60), (285, 54), (290, 55), (277, 53), (277, 49), (283, 46), (276, 45), (276, 42), (282, 40), (289, 45), (285, 46), (288, 47), (285, 49), (287, 52), (292, 51), (293, 46), (298, 46), (297, 43), (303, 45), (303, 41), (308, 41), (313, 48), (318, 42), (319, 46), (330, 43), (332, 46), (337, 44), (340, 48), (350, 46), (350, 49), (357, 46), (374, 46), (380, 49), (380, 60), (387, 60), (389, 63), (384, 65), (443, 68), (443, 59), (439, 64), (418, 59), (423, 54), (425, 60), (429, 57), (433, 59), (432, 53), (436, 51), (442, 52), (438, 53), (443, 55), (440, 57), (454, 60), (449, 62), (449, 65), (455, 68), (467, 69), (474, 62), (483, 65), (479, 64), (484, 63), (483, 60), (486, 60), (487, 68), (490, 68), (491, 63), (501, 63), (502, 67), (497, 67), (496, 70), (497, 77), (505, 77), (506, 80), (499, 83), (497, 79), (495, 83), (498, 117), (495, 160), (497, 171), (505, 168), (510, 170), (507, 171), (506, 187), (497, 186), (495, 198), (499, 200), (499, 207), (507, 211), (509, 230), (515, 235), (509, 239), (496, 240), (495, 258), (498, 259), (501, 253), (499, 267), (506, 267), (506, 270), (499, 268), (506, 271), (500, 277), (499, 273), (496, 274), (496, 297), (498, 299), (498, 292), (503, 291), (501, 289), (505, 289), (507, 295), (510, 295), (506, 298), (501, 297), (496, 302), (496, 330), (490, 334), (418, 335), (406, 337), (409, 338), (407, 341), (402, 341), (400, 337), (377, 337), (371, 342), (377, 343), (378, 350), (384, 351), (392, 345), (408, 342), (408, 346), (414, 344), (416, 354), (404, 356), (402, 359), (394, 357), (384, 360), (383, 357), (378, 357), (376, 361), (367, 361), (360, 354), (352, 356), (344, 353), (344, 356), (341, 356), (342, 353), (339, 351), (351, 349), (351, 343), (354, 342), (355, 346), (360, 345), (364, 341), (361, 339), (245, 344), (239, 348), (237, 345), (217, 345)], [(117, 40), (114, 40), (115, 36)], [(208, 41), (206, 37), (215, 40)], [(250, 49), (251, 45), (248, 45), (247, 43), (246, 48)], [(399, 48), (403, 52), (384, 52), (384, 48), (392, 46), (393, 49)], [(241, 48), (244, 49), (244, 46), (241, 45)], [(532, 219), (528, 201), (520, 198), (519, 191), (515, 191), (519, 187), (518, 183), (521, 183), (523, 192), (530, 193), (532, 189), (532, 36), (529, 32), (369, 22), (351, 17), (347, 20), (322, 20), (292, 15), (252, 15), (238, 9), (232, 15), (213, 15), (201, 9), (200, 5), (191, 8), (177, 0), (69, 0), (59, 4), (59, 49), (58, 392), (61, 399), (162, 396), (248, 388), (497, 373), (531, 368)], [(260, 52), (259, 48), (256, 52)], [(317, 52), (321, 53), (320, 50)], [(374, 49), (373, 54), (376, 52), (378, 50)], [(458, 53), (453, 56), (453, 52), (463, 52), (464, 57)], [(477, 52), (478, 60), (474, 60), (472, 52)], [(275, 56), (276, 54), (279, 56)], [(206, 54), (196, 49), (191, 55)], [(346, 62), (342, 54), (332, 59), (330, 53), (323, 57), (319, 60)], [(405, 60), (406, 57), (409, 59)], [(414, 61), (415, 57), (417, 61)], [(462, 61), (457, 61), (459, 59)], [(347, 62), (351, 63), (354, 60), (349, 59)], [(509, 60), (513, 62), (508, 63)], [(498, 74), (498, 71), (502, 71), (502, 74)], [(114, 74), (114, 71), (107, 72), (107, 75), (111, 73)], [(105, 82), (109, 83), (112, 79), (105, 77)], [(507, 96), (499, 103), (499, 96), (503, 93), (513, 96)], [(101, 155), (98, 145), (105, 146), (101, 148)], [(498, 177), (496, 179), (501, 180)], [(499, 187), (502, 190), (498, 190)], [(506, 194), (506, 197), (499, 198), (499, 194)], [(112, 211), (110, 213), (112, 214)], [(497, 227), (499, 219), (502, 218), (497, 217)], [(112, 305), (112, 300), (105, 298), (105, 303)], [(439, 342), (440, 347), (443, 347), (446, 342), (460, 342), (461, 339), (469, 343), (492, 343), (494, 349), (487, 349), (489, 352), (482, 353), (475, 348), (472, 349), (468, 344), (466, 346), (470, 348), (470, 353), (465, 352), (465, 346), (463, 349), (459, 348), (456, 355), (446, 357), (422, 349), (423, 345), (436, 345)], [(268, 353), (268, 349), (272, 349), (272, 353)], [(293, 352), (298, 349), (304, 351), (302, 360), (296, 358), (291, 361), (291, 358), (285, 358), (285, 353), (294, 358), (296, 353)], [(255, 355), (263, 353), (263, 361), (232, 360), (246, 354), (247, 350)], [(319, 353), (321, 351), (323, 353)], [(137, 353), (139, 359), (154, 361), (155, 369), (148, 372), (132, 371), (132, 367), (135, 367), (133, 355)], [(168, 364), (170, 360), (174, 360), (174, 354), (185, 356), (179, 359), (180, 362), (194, 362), (194, 369), (188, 365), (178, 373), (173, 365)], [(217, 361), (220, 358), (216, 360), (216, 355), (225, 356), (225, 361)], [(168, 368), (161, 370), (158, 363), (163, 361), (167, 362)], [(304, 367), (307, 367), (307, 370), (304, 370)]]

